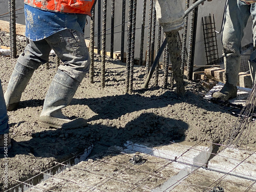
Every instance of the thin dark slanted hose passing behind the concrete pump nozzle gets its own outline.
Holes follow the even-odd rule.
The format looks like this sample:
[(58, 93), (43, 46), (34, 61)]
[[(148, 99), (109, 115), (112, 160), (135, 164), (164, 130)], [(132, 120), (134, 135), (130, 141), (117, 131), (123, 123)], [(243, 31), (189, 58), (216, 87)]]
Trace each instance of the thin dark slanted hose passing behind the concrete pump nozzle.
[[(196, 3), (194, 3), (193, 5), (191, 5), (191, 6), (184, 12), (184, 13), (185, 13), (184, 17), (187, 16), (191, 11), (193, 11), (196, 7), (198, 7), (201, 3), (205, 2), (205, 1), (206, 1), (206, 0), (199, 0), (199, 1), (197, 1)], [(155, 60), (154, 60), (154, 62), (153, 62), (153, 64), (152, 64), (151, 70), (150, 70), (150, 72), (148, 73), (147, 78), (146, 78), (146, 80), (145, 80), (145, 82), (144, 82), (144, 84), (143, 84), (143, 87), (142, 87), (143, 89), (148, 88), (148, 83), (150, 82), (150, 79), (151, 79), (151, 77), (152, 77), (152, 75), (153, 75), (153, 73), (154, 73), (154, 70), (155, 70), (155, 68), (156, 68), (156, 66), (157, 66), (157, 63), (158, 63), (158, 61), (159, 61), (159, 59), (160, 59), (160, 57), (161, 57), (161, 55), (162, 55), (162, 53), (163, 53), (163, 50), (164, 50), (164, 48), (165, 48), (166, 45), (167, 45), (167, 39), (165, 38), (164, 41), (163, 41), (163, 43), (162, 43), (162, 45), (161, 45), (161, 47), (160, 47), (160, 49), (159, 49), (159, 51), (158, 51), (158, 53), (157, 53), (157, 55), (156, 55), (156, 58), (155, 58)]]

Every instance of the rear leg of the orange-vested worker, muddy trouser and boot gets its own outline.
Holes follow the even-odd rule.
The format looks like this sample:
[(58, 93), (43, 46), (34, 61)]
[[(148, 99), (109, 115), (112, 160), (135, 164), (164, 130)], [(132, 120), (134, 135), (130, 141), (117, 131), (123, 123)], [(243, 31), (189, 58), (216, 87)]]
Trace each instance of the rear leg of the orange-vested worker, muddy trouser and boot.
[(47, 41), (29, 41), (24, 52), (17, 59), (16, 66), (12, 72), (11, 78), (5, 92), (5, 101), (8, 111), (17, 108), (27, 84), (34, 71), (49, 58), (51, 47)]

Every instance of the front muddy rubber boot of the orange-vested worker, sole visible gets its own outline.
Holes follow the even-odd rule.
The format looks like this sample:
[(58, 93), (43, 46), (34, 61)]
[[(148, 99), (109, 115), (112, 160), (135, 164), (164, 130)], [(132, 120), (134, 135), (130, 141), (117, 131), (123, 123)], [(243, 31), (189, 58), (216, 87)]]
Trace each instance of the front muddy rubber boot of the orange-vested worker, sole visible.
[(75, 95), (80, 82), (58, 70), (46, 94), (44, 108), (39, 117), (39, 125), (46, 128), (76, 129), (87, 126), (87, 120), (70, 120), (61, 109), (68, 106)]

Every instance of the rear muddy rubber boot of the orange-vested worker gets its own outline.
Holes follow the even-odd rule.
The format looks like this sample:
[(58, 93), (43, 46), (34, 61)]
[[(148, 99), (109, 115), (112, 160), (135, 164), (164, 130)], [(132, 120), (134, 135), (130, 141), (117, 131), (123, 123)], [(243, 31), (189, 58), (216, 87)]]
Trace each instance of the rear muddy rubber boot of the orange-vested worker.
[(14, 111), (18, 108), (22, 93), (27, 87), (34, 71), (34, 69), (25, 67), (19, 62), (16, 63), (4, 95), (7, 111)]

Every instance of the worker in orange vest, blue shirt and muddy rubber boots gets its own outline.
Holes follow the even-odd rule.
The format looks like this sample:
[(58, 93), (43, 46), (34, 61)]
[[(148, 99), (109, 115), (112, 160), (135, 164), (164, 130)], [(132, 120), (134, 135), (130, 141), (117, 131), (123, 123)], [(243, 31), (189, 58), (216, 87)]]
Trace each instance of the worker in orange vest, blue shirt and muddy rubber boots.
[(63, 65), (58, 67), (53, 77), (38, 123), (42, 127), (57, 129), (87, 125), (83, 118), (68, 119), (61, 109), (69, 105), (90, 68), (83, 29), (86, 16), (91, 16), (95, 3), (96, 0), (25, 0), (26, 37), (29, 44), (18, 57), (5, 92), (8, 111), (17, 109), (34, 71), (48, 62), (53, 49)]

